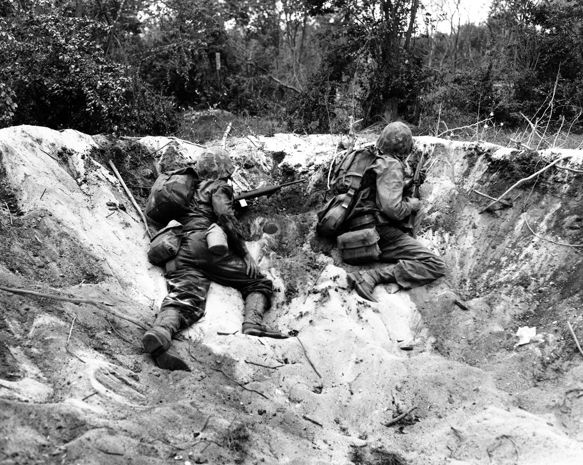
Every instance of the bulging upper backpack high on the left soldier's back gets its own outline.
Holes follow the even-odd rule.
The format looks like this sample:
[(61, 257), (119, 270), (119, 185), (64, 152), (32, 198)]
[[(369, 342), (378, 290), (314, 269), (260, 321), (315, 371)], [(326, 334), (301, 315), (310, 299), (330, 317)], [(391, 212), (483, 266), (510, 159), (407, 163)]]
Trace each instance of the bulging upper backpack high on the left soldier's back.
[(188, 206), (199, 184), (193, 167), (163, 172), (154, 181), (146, 202), (146, 214), (158, 223), (180, 218), (188, 212)]

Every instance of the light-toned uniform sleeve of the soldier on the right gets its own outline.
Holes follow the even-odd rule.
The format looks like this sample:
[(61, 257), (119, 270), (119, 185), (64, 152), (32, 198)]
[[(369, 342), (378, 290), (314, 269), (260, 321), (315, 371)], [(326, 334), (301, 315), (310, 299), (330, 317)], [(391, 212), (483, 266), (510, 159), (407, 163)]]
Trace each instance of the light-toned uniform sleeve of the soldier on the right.
[(377, 167), (377, 205), (391, 220), (402, 220), (412, 205), (403, 202), (403, 166), (395, 158), (384, 158)]

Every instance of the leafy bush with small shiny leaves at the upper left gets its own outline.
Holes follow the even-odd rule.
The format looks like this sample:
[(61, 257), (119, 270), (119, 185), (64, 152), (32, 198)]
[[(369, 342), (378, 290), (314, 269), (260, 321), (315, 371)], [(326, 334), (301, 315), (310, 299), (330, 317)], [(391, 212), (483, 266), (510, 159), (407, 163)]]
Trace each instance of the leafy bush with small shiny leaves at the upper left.
[(170, 100), (153, 96), (131, 67), (104, 54), (101, 42), (110, 26), (64, 16), (51, 2), (38, 8), (27, 3), (13, 3), (0, 18), (0, 125), (87, 133), (176, 127)]

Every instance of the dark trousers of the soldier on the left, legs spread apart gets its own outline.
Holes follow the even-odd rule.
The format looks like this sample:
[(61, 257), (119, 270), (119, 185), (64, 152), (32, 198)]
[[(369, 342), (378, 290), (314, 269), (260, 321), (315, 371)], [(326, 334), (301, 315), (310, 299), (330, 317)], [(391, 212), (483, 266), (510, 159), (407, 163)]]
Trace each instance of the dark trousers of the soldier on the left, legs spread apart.
[(181, 316), (181, 328), (192, 325), (205, 313), (206, 294), (210, 283), (234, 287), (243, 299), (251, 293), (262, 293), (271, 306), (273, 284), (262, 274), (251, 278), (243, 259), (229, 251), (217, 256), (209, 252), (205, 231), (182, 238), (178, 255), (166, 264), (168, 295), (162, 301), (160, 314), (176, 309)]

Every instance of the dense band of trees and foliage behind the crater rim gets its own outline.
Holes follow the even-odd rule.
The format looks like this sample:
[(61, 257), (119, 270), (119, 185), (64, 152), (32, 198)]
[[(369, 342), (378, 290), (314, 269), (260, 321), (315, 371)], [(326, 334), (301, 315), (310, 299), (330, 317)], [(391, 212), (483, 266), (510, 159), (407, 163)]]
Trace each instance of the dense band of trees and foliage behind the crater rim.
[(578, 128), (583, 0), (493, 0), (485, 23), (432, 29), (448, 15), (420, 0), (0, 0), (0, 126), (164, 134), (177, 111), (218, 107), (301, 132), (349, 117)]

